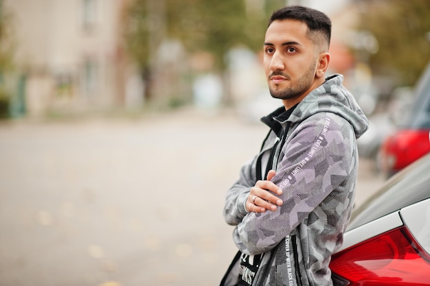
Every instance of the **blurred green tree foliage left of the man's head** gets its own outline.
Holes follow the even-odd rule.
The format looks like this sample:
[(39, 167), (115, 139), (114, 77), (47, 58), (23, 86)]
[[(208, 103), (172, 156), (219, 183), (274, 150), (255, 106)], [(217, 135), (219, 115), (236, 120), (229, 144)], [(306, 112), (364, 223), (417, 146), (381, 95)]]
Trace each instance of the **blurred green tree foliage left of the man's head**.
[[(268, 15), (284, 0), (133, 0), (126, 13), (128, 53), (145, 76), (163, 39), (180, 40), (187, 53), (207, 52), (223, 72), (238, 45), (262, 49)], [(148, 91), (149, 92), (149, 91)]]

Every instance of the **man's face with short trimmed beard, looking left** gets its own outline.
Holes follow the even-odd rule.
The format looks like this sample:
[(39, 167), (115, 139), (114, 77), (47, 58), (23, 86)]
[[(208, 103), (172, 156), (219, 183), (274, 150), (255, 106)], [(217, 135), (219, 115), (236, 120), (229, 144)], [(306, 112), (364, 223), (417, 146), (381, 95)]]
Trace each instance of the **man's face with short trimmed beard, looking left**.
[[(303, 99), (316, 88), (317, 53), (306, 23), (273, 21), (264, 39), (264, 70), (272, 97)], [(299, 101), (298, 100), (298, 101)]]

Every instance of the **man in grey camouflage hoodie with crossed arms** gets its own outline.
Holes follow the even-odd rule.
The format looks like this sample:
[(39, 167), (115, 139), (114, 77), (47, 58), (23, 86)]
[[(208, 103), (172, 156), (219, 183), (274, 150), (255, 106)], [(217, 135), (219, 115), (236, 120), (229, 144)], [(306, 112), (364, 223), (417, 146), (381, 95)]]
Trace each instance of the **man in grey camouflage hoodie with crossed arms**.
[(356, 140), (367, 119), (343, 87), (325, 78), (331, 23), (310, 8), (273, 12), (264, 39), (272, 97), (260, 154), (229, 189), (224, 216), (239, 248), (221, 285), (332, 285), (330, 257), (354, 202)]

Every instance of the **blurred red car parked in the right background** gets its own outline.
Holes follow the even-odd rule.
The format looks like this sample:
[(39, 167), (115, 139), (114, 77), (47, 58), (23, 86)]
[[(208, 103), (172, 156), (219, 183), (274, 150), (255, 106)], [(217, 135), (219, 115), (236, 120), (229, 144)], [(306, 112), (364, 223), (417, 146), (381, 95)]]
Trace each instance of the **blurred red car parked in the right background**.
[(381, 145), (381, 169), (392, 176), (430, 152), (430, 64), (416, 85), (409, 119)]

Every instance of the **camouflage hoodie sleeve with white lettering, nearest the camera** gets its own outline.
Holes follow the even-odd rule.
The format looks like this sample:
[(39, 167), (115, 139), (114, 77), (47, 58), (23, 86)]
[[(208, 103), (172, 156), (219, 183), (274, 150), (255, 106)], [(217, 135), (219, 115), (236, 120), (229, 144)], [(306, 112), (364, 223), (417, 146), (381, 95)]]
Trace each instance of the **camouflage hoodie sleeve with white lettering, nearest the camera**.
[[(291, 230), (348, 178), (355, 162), (350, 123), (320, 112), (302, 122), (282, 147), (284, 156), (272, 181), (284, 202), (277, 211), (247, 213), (234, 230), (234, 241), (246, 254), (274, 248)], [(339, 206), (342, 204), (339, 202)]]

